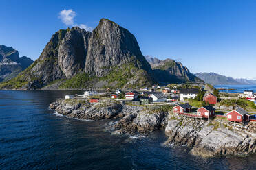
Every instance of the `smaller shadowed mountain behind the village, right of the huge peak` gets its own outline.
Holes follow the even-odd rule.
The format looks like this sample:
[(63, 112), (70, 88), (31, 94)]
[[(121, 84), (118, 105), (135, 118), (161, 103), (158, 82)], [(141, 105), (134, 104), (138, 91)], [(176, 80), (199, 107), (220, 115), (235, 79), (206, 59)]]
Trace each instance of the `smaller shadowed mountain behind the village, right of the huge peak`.
[(145, 56), (146, 60), (153, 69), (155, 79), (162, 84), (184, 83), (184, 82), (203, 82), (200, 78), (190, 73), (186, 66), (175, 60), (159, 60), (151, 56)]

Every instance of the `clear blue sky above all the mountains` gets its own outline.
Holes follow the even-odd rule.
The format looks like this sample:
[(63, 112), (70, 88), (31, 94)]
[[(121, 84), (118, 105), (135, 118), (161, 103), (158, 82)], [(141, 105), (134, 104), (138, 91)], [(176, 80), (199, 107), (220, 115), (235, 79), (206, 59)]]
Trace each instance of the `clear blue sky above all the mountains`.
[[(94, 28), (107, 18), (129, 29), (144, 55), (173, 58), (192, 73), (256, 77), (255, 9), (250, 0), (1, 0), (0, 44), (35, 60), (58, 29)], [(66, 24), (63, 10), (74, 12)]]

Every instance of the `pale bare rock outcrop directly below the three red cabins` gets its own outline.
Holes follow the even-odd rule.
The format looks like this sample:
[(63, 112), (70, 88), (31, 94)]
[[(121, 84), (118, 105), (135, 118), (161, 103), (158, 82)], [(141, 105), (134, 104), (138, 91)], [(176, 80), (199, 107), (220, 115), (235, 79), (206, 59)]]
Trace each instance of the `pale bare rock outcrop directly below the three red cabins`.
[(219, 126), (200, 119), (171, 117), (165, 129), (169, 136), (166, 143), (186, 145), (191, 154), (203, 157), (255, 153), (256, 138), (252, 135), (255, 132)]

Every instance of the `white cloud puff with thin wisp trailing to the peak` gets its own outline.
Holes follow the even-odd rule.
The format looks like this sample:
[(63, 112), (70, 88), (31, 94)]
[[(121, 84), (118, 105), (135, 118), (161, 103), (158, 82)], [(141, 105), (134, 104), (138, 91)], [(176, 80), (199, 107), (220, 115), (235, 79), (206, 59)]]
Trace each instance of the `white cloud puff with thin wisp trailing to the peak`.
[(74, 17), (76, 17), (76, 12), (72, 9), (62, 10), (61, 12), (59, 12), (59, 16), (58, 16), (58, 18), (60, 18), (61, 21), (67, 26), (80, 27), (80, 28), (85, 29), (86, 31), (92, 32), (92, 30), (93, 30), (92, 27), (88, 27), (85, 24), (76, 24), (76, 23), (74, 23)]

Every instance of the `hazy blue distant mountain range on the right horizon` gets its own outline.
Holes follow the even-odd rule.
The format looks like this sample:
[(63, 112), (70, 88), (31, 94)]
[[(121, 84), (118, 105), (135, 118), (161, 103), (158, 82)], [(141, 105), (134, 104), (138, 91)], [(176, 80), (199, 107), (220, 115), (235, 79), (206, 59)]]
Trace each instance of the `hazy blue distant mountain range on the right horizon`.
[(244, 78), (235, 79), (233, 77), (226, 77), (217, 73), (196, 73), (195, 76), (204, 80), (208, 84), (226, 84), (226, 85), (254, 85), (256, 80), (248, 80)]

